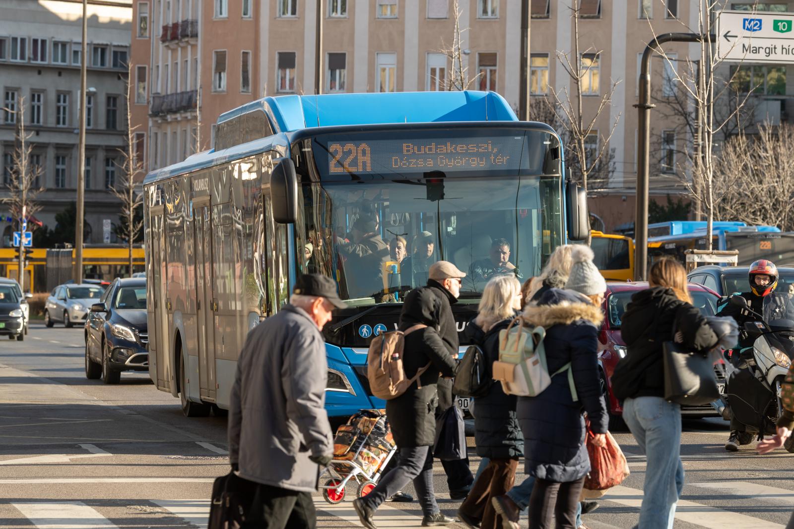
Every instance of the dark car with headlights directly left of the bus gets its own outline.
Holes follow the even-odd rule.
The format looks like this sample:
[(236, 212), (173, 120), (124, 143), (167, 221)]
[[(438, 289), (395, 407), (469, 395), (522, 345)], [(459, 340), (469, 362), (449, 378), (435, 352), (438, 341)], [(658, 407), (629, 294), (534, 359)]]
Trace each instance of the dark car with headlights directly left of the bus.
[(146, 280), (116, 279), (85, 325), (86, 378), (118, 384), (121, 371), (148, 370)]

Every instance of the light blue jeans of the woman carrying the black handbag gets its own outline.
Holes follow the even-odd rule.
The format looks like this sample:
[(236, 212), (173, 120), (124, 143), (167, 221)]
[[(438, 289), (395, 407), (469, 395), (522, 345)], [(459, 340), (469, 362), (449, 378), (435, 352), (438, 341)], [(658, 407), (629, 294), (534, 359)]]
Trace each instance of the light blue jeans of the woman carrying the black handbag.
[(661, 397), (626, 399), (623, 420), (647, 460), (639, 527), (672, 529), (684, 489), (681, 407)]

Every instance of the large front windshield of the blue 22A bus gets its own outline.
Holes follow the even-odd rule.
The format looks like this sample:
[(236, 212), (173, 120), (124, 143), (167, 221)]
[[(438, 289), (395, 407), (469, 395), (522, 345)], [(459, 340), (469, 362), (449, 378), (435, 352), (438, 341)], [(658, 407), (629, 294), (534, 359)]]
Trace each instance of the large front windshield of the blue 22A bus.
[[(392, 147), (376, 141), (363, 150), (363, 142), (349, 147), (356, 156), (368, 153), (368, 161), (345, 161), (338, 165), (342, 171), (334, 170), (333, 155), (321, 159), (318, 168), (328, 178), (303, 188), (299, 272), (337, 278), (341, 298), (351, 306), (402, 301), (407, 290), (426, 285), (430, 265), (439, 260), (467, 274), (461, 300), (470, 302), (494, 275), (514, 274), (522, 281), (538, 274), (545, 257), (563, 242), (561, 178), (538, 174), (545, 151), (539, 161), (527, 155), (524, 132), (495, 136), (490, 147), (488, 140), (472, 138), (495, 149), (493, 161), (487, 155), (478, 169), (403, 167), (395, 174), (398, 165), (430, 160), (437, 167), (441, 158), (391, 153), (392, 161), (380, 153)], [(463, 139), (456, 141), (430, 142), (430, 149), (454, 150)], [(336, 150), (335, 143), (327, 145), (327, 151)], [(344, 152), (347, 144), (341, 145)], [(427, 140), (414, 140), (406, 149), (427, 148)], [(500, 155), (516, 159), (506, 163), (509, 167), (495, 167)], [(348, 171), (359, 167), (364, 171)]]

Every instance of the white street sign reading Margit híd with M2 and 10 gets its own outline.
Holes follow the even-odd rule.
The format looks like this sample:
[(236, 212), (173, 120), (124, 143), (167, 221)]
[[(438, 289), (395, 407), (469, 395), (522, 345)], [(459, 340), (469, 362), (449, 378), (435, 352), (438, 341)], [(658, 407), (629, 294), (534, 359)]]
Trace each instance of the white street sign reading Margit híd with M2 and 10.
[(794, 13), (723, 11), (716, 57), (728, 62), (794, 63)]

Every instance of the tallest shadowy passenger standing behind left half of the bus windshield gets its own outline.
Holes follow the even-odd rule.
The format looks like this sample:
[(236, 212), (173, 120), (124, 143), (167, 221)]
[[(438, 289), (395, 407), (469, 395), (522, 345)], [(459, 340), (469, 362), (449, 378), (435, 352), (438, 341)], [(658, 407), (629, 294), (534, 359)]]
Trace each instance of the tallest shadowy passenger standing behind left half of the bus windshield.
[(352, 242), (338, 239), (339, 252), (345, 256), (345, 278), (348, 295), (380, 297), (384, 289), (384, 263), (389, 259), (389, 248), (372, 217), (358, 217), (353, 223)]

